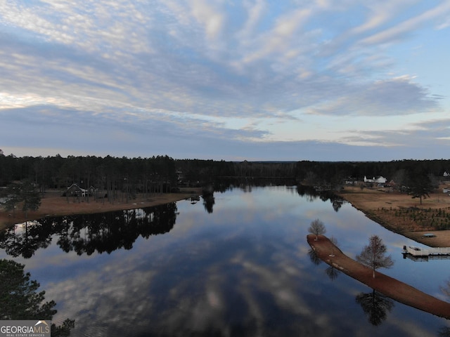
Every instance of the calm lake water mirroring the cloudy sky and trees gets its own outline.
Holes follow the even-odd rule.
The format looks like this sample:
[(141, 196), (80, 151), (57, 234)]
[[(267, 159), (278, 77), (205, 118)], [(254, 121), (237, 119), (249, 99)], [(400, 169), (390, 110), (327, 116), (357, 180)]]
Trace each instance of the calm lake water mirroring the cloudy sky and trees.
[(46, 300), (57, 303), (53, 322), (75, 319), (71, 336), (423, 337), (449, 331), (450, 321), (378, 294), (375, 302), (372, 289), (314, 263), (306, 236), (315, 218), (352, 258), (378, 234), (395, 260), (381, 272), (446, 299), (440, 288), (450, 279), (450, 260), (404, 259), (402, 246), (414, 242), (349, 204), (300, 195), (296, 187), (234, 188), (214, 193), (206, 206), (180, 201), (46, 219), (29, 228), (27, 240), (18, 228), (3, 242), (0, 258), (25, 264)]

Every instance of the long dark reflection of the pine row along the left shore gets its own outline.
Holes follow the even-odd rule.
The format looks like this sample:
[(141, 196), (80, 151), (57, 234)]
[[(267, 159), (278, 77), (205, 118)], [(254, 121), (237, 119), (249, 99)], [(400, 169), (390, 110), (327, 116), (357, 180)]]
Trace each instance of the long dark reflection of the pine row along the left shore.
[(57, 244), (68, 253), (111, 253), (131, 249), (139, 236), (164, 234), (176, 221), (176, 204), (170, 203), (145, 209), (131, 209), (81, 216), (46, 217), (25, 227), (11, 227), (0, 234), (0, 248), (8, 255), (30, 258), (39, 248)]

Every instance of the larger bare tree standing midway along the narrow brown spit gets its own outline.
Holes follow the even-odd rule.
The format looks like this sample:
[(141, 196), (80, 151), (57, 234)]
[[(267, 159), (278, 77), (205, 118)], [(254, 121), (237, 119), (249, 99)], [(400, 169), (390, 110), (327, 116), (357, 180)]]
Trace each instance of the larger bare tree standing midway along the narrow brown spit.
[(369, 244), (364, 247), (363, 251), (356, 256), (356, 260), (373, 270), (373, 278), (375, 278), (375, 270), (378, 268), (390, 268), (394, 265), (391, 256), (385, 256), (386, 246), (378, 235), (372, 235), (368, 239)]

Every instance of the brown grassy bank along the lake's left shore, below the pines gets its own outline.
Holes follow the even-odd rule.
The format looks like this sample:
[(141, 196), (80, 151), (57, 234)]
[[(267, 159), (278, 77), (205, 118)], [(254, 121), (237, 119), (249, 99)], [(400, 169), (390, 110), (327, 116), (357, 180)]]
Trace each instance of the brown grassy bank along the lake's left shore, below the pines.
[(159, 206), (171, 202), (181, 201), (191, 198), (193, 195), (200, 195), (200, 187), (184, 188), (178, 193), (162, 194), (136, 194), (135, 199), (128, 201), (120, 198), (110, 203), (105, 199), (94, 200), (90, 198), (89, 202), (85, 198), (61, 197), (60, 191), (46, 192), (41, 199), (41, 206), (37, 211), (29, 211), (27, 218), (22, 210), (12, 211), (0, 210), (0, 232), (25, 221), (38, 220), (46, 216), (68, 216), (75, 214), (105, 213), (109, 211), (120, 211), (123, 209), (139, 209), (144, 207)]

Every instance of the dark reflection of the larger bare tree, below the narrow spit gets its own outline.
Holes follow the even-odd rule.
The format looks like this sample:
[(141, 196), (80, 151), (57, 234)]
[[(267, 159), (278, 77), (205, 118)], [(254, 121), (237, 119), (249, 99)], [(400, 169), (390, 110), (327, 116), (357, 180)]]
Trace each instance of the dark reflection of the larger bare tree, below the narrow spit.
[(387, 318), (387, 312), (394, 308), (394, 300), (383, 295), (383, 293), (375, 291), (375, 289), (371, 293), (359, 293), (356, 295), (356, 303), (361, 305), (368, 317), (368, 322), (374, 326), (383, 323)]

